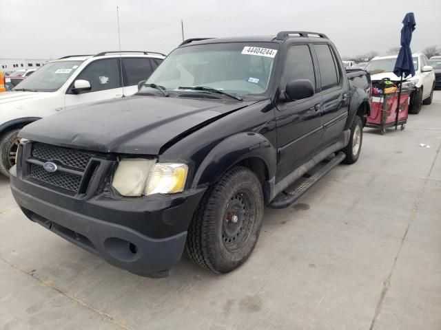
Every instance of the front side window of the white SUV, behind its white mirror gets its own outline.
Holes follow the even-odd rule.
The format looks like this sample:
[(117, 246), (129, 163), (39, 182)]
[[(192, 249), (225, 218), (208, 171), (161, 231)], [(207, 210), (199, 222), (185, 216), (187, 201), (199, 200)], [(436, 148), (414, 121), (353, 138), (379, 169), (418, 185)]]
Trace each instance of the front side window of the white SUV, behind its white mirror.
[(88, 80), (90, 91), (104, 91), (106, 89), (121, 87), (119, 76), (119, 59), (109, 58), (95, 61), (84, 69), (76, 80)]

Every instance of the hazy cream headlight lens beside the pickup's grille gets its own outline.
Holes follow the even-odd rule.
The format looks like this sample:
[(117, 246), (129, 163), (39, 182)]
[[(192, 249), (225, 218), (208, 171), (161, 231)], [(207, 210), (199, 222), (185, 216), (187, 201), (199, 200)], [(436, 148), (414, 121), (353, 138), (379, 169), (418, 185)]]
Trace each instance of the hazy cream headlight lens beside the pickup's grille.
[(113, 188), (123, 196), (141, 196), (155, 162), (154, 159), (121, 159), (112, 181)]

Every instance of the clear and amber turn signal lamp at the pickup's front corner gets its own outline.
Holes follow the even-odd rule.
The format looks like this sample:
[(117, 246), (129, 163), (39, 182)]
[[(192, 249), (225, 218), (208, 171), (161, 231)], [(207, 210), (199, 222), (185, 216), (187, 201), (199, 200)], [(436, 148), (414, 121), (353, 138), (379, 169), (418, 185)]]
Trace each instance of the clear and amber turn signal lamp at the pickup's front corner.
[(188, 166), (176, 163), (155, 164), (145, 195), (156, 193), (173, 194), (184, 190)]

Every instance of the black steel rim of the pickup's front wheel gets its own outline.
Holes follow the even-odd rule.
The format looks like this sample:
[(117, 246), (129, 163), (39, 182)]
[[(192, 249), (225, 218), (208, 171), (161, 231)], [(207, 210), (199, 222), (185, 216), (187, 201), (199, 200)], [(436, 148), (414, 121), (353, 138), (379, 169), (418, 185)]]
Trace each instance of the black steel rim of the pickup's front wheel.
[(252, 232), (256, 203), (247, 190), (239, 190), (229, 199), (222, 219), (222, 241), (230, 252), (243, 248)]

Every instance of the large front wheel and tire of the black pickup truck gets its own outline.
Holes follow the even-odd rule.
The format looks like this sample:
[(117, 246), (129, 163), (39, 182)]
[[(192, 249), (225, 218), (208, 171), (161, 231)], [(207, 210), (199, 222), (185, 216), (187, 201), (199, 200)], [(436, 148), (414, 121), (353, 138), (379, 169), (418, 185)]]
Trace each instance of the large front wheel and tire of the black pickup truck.
[(263, 204), (260, 181), (251, 170), (234, 167), (225, 173), (205, 192), (189, 225), (190, 259), (216, 273), (245, 263), (260, 234)]

